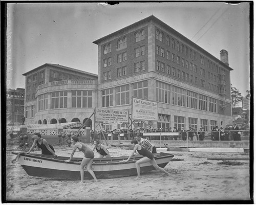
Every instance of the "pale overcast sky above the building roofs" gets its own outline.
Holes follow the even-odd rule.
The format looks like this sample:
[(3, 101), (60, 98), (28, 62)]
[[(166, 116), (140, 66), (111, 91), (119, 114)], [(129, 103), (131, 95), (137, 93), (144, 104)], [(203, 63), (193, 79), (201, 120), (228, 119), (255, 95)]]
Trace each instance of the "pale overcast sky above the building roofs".
[(98, 74), (93, 41), (154, 15), (220, 59), (228, 52), (231, 84), (250, 89), (249, 3), (8, 3), (7, 88), (45, 63)]

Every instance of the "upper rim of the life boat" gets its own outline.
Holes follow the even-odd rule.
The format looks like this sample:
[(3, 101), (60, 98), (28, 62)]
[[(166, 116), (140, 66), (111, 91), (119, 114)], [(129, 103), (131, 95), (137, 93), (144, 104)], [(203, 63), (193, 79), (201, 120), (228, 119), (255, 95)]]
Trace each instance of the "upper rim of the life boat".
[[(161, 154), (162, 153), (162, 154)], [(19, 154), (17, 152), (12, 152), (12, 154)], [(36, 153), (31, 153), (31, 154), (27, 154), (27, 153), (20, 153), (20, 156), (27, 156), (27, 157), (32, 157), (32, 158), (36, 158), (36, 159), (41, 159), (41, 160), (46, 160), (46, 161), (52, 161), (52, 162), (58, 162), (58, 163), (65, 163), (64, 160), (68, 160), (69, 157), (68, 156), (59, 156), (62, 158), (62, 160), (59, 160), (58, 158), (54, 158), (54, 157), (50, 157), (50, 156), (44, 156), (41, 154), (36, 154)], [(121, 160), (127, 160), (129, 156), (118, 156), (118, 157), (111, 157), (111, 158), (94, 158), (93, 160), (93, 166), (98, 166), (98, 165), (115, 165), (115, 164), (130, 164), (130, 163), (134, 163), (136, 161), (138, 161), (140, 158), (142, 158), (142, 155), (136, 155), (133, 156), (128, 162), (120, 162)], [(156, 160), (160, 160), (162, 158), (169, 158), (169, 157), (174, 157), (173, 154), (169, 154), (169, 153), (164, 153), (164, 152), (160, 152), (158, 153), (158, 155), (156, 156)], [(81, 164), (83, 157), (74, 157), (72, 159), (71, 162), (68, 162), (67, 164)], [(97, 162), (99, 161), (99, 162)], [(103, 162), (102, 162), (103, 161)]]

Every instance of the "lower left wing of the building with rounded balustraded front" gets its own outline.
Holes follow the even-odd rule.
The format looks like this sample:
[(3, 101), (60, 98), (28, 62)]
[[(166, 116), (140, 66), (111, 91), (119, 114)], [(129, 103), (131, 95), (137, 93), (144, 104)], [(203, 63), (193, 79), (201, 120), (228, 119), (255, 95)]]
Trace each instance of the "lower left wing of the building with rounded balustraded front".
[[(87, 113), (93, 112), (96, 74), (46, 63), (23, 75), (26, 124), (55, 124), (59, 119), (61, 123), (84, 122)], [(91, 127), (92, 122), (88, 123)]]

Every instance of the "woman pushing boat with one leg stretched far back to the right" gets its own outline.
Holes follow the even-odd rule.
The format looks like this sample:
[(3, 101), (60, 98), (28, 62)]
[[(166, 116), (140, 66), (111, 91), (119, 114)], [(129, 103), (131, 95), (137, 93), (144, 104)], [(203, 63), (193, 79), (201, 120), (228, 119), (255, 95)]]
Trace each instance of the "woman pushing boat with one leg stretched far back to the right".
[(132, 154), (129, 156), (129, 158), (127, 160), (124, 160), (123, 162), (128, 162), (130, 160), (130, 158), (134, 155), (135, 151), (137, 150), (139, 154), (143, 155), (144, 157), (141, 158), (140, 160), (138, 160), (136, 163), (135, 163), (135, 166), (136, 166), (136, 169), (137, 169), (137, 179), (140, 178), (140, 164), (144, 164), (144, 163), (147, 163), (149, 162), (150, 164), (152, 164), (156, 169), (164, 172), (165, 174), (168, 174), (170, 175), (167, 171), (165, 171), (165, 169), (159, 167), (157, 165), (157, 162), (154, 158), (154, 155), (146, 150), (145, 148), (141, 147), (139, 144), (138, 144), (138, 141), (137, 140), (132, 140), (132, 146), (134, 147), (133, 149), (133, 152)]

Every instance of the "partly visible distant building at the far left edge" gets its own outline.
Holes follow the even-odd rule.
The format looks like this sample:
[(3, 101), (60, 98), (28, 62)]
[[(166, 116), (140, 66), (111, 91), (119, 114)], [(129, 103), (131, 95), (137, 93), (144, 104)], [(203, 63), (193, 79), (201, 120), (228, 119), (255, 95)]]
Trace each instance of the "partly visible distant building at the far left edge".
[(7, 125), (22, 125), (25, 89), (8, 89), (6, 93)]

